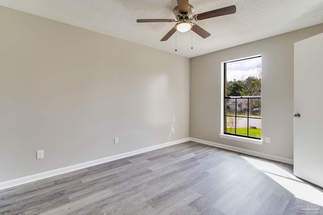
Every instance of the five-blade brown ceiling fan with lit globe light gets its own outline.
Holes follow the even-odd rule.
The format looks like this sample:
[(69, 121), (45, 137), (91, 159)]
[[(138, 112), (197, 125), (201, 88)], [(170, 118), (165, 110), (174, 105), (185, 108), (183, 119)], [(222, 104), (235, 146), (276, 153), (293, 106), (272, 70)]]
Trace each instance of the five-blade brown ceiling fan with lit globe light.
[(168, 40), (176, 31), (187, 32), (189, 30), (194, 31), (196, 34), (202, 38), (206, 38), (211, 34), (205, 31), (200, 26), (192, 23), (191, 21), (204, 20), (212, 17), (219, 17), (228, 14), (236, 13), (236, 6), (229, 6), (225, 8), (220, 8), (213, 11), (208, 11), (205, 13), (192, 15), (194, 12), (193, 6), (188, 4), (188, 0), (177, 0), (177, 6), (174, 8), (174, 14), (176, 20), (173, 19), (138, 19), (137, 23), (143, 22), (177, 22), (174, 28), (172, 28), (160, 41)]

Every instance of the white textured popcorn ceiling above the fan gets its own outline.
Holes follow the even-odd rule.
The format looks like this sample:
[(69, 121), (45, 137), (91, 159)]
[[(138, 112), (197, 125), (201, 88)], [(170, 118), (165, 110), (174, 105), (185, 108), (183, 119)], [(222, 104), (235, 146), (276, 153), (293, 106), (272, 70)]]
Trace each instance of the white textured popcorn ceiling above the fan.
[(136, 23), (136, 19), (175, 19), (176, 0), (0, 0), (1, 6), (189, 58), (323, 23), (322, 0), (190, 0), (189, 3), (194, 7), (193, 15), (231, 5), (236, 6), (237, 12), (195, 21), (211, 34), (206, 39), (189, 31), (177, 32), (168, 41), (160, 42), (174, 23)]

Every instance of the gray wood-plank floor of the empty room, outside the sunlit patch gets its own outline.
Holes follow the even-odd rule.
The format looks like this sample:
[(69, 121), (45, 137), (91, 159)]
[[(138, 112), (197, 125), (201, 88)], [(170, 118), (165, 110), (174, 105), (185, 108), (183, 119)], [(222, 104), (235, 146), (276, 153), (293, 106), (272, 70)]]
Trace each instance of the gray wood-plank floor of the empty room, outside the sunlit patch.
[(0, 214), (305, 214), (296, 202), (306, 202), (246, 159), (292, 173), (186, 142), (0, 190)]

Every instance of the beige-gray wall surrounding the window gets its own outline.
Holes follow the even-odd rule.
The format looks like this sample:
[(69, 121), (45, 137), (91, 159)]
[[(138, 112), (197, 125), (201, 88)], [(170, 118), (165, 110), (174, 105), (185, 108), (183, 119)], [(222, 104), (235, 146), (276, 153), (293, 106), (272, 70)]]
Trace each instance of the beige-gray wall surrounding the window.
[[(294, 43), (321, 32), (323, 24), (192, 58), (190, 136), (292, 159)], [(261, 135), (271, 136), (271, 144), (221, 138), (221, 62), (257, 54), (262, 55)]]

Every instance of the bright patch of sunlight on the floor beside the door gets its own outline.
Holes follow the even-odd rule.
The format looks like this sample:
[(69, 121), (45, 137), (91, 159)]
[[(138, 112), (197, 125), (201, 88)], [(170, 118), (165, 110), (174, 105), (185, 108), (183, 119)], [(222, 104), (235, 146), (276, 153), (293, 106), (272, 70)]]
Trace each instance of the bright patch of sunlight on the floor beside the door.
[(252, 164), (257, 169), (263, 171), (264, 174), (271, 177), (289, 192), (293, 193), (296, 198), (323, 206), (323, 192), (306, 184), (289, 172), (282, 168), (264, 161), (259, 161), (252, 158), (243, 157), (246, 161)]

